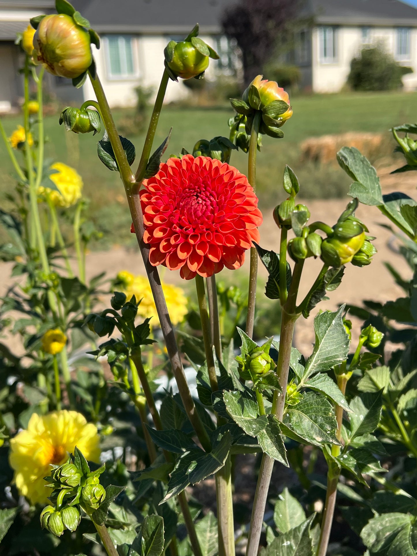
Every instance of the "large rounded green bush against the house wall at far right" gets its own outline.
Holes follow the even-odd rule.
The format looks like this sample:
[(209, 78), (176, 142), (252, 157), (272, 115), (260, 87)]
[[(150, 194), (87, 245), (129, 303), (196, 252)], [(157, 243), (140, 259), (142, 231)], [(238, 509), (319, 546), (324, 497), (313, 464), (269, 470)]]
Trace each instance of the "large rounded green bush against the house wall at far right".
[(354, 91), (392, 91), (403, 87), (406, 73), (413, 70), (400, 66), (383, 47), (366, 47), (351, 61), (347, 83)]

